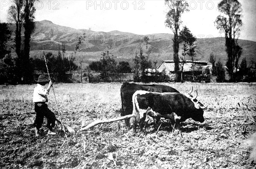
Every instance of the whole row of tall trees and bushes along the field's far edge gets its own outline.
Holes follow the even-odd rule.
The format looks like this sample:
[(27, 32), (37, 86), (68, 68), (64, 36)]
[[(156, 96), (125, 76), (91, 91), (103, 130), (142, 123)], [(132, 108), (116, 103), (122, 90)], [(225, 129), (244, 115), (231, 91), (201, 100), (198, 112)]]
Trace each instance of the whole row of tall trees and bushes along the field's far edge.
[[(181, 15), (184, 12), (188, 12), (188, 4), (185, 0), (165, 0), (166, 6), (169, 11), (166, 14), (165, 24), (169, 27), (174, 37), (173, 41), (173, 59), (175, 62), (175, 81), (183, 81), (183, 65), (186, 62), (186, 57), (194, 61), (195, 42), (196, 37), (191, 33), (186, 26), (180, 31), (181, 27)], [(14, 0), (14, 5), (9, 7), (8, 17), (12, 23), (15, 23), (15, 53), (17, 57), (13, 58), (11, 55), (12, 48), (7, 48), (7, 42), (11, 37), (11, 31), (8, 28), (8, 24), (0, 23), (0, 59), (2, 60), (1, 77), (8, 79), (12, 77), (12, 81), (16, 83), (31, 83), (33, 79), (33, 70), (44, 70), (39, 64), (42, 63), (42, 59), (32, 59), (29, 57), (31, 35), (35, 29), (35, 0)], [(242, 26), (241, 20), (241, 4), (238, 0), (221, 0), (218, 3), (218, 11), (220, 15), (215, 20), (215, 26), (218, 30), (225, 34), (225, 46), (227, 52), (226, 69), (230, 76), (230, 82), (236, 82), (239, 78), (243, 80), (250, 79), (249, 68), (247, 68), (247, 62), (242, 60), (239, 65), (239, 59), (242, 55), (242, 48), (238, 44), (238, 37), (240, 28)], [(24, 28), (24, 39), (21, 37), (22, 27)], [(82, 62), (84, 62), (84, 56), (76, 56), (79, 51), (80, 45), (84, 42), (85, 34), (81, 35), (76, 42), (74, 52), (67, 59), (65, 55), (65, 45), (62, 44), (62, 54), (59, 47), (58, 55), (47, 54), (48, 64), (55, 64), (54, 70), (63, 75), (66, 70), (81, 70), (81, 82), (82, 82)], [(182, 44), (182, 57), (179, 58), (179, 45)], [(111, 44), (110, 44), (111, 45)], [(109, 47), (111, 49), (111, 47)], [(113, 58), (113, 55), (109, 51), (105, 51), (99, 61), (90, 63), (87, 69), (96, 70), (101, 72), (101, 77), (104, 81), (109, 81), (109, 74), (115, 73), (128, 73), (132, 72), (135, 82), (147, 82), (150, 74), (154, 74), (151, 77), (157, 77), (159, 79), (165, 79), (166, 75), (156, 71), (156, 61), (151, 61), (149, 56), (151, 54), (151, 48), (149, 38), (137, 40), (137, 52), (133, 59), (133, 65), (130, 67), (128, 62), (117, 62)], [(56, 61), (55, 61), (56, 59)], [(181, 65), (180, 65), (181, 60)], [(79, 66), (74, 62), (78, 62)], [(220, 61), (216, 62), (213, 54), (210, 55), (209, 62), (212, 63), (213, 74), (217, 76), (218, 82), (223, 80), (224, 67)], [(216, 62), (216, 65), (215, 65)], [(181, 70), (180, 70), (181, 69)], [(194, 65), (192, 66), (193, 80)], [(240, 71), (238, 71), (240, 70)], [(242, 71), (241, 71), (242, 70)], [(155, 73), (153, 73), (155, 72)], [(220, 73), (221, 72), (221, 73)], [(222, 74), (222, 75), (221, 75)], [(157, 78), (155, 81), (157, 81)], [(151, 78), (152, 79), (152, 78)]]

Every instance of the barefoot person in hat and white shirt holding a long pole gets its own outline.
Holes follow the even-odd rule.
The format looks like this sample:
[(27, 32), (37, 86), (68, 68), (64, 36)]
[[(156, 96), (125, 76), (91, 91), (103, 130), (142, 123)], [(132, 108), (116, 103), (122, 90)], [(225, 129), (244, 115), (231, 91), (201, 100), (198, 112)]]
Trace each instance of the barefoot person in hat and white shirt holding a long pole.
[[(33, 102), (35, 103), (35, 137), (39, 136), (39, 129), (41, 128), (44, 116), (47, 118), (47, 127), (48, 127), (48, 135), (55, 135), (56, 133), (53, 132), (53, 128), (55, 126), (55, 115), (54, 113), (48, 109), (46, 102), (48, 101), (47, 95), (49, 94), (50, 88), (52, 86), (52, 81), (49, 80), (48, 76), (41, 74), (38, 77), (38, 84), (35, 86), (34, 93), (33, 93)], [(44, 88), (49, 82), (47, 89)]]

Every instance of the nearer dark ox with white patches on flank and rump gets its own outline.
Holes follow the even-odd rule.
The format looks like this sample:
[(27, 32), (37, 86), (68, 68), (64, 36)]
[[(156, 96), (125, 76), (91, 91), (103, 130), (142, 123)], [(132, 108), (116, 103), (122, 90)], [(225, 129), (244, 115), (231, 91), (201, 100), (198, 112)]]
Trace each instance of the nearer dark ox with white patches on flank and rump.
[(202, 123), (204, 122), (204, 109), (206, 107), (201, 107), (198, 101), (192, 101), (196, 97), (192, 98), (181, 93), (156, 93), (138, 90), (132, 98), (134, 127), (138, 123), (140, 131), (144, 132), (145, 119), (148, 115), (154, 119), (169, 118), (178, 124), (188, 118)]

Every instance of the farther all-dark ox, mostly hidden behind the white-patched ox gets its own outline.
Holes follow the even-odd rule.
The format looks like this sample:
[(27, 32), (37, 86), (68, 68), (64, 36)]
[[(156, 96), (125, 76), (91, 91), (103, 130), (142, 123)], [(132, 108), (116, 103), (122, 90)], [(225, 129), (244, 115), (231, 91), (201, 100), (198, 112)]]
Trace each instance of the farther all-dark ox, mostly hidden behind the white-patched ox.
[[(132, 95), (137, 90), (145, 90), (149, 92), (171, 92), (171, 93), (179, 93), (175, 88), (166, 85), (137, 85), (135, 83), (124, 82), (121, 87), (121, 116), (132, 114), (133, 105), (132, 105)], [(127, 127), (130, 126), (130, 118), (125, 119), (125, 125)]]

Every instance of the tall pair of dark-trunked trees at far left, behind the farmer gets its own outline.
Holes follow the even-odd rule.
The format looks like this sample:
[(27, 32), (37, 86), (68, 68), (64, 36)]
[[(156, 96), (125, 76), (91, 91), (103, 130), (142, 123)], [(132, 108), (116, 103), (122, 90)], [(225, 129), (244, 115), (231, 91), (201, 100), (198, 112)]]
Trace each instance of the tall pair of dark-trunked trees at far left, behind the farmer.
[[(35, 30), (35, 1), (36, 0), (14, 0), (14, 5), (9, 7), (9, 21), (15, 23), (15, 52), (17, 59), (15, 66), (20, 71), (16, 72), (19, 81), (30, 83), (33, 72), (29, 59), (31, 35)], [(21, 38), (21, 29), (24, 28), (24, 39)]]

